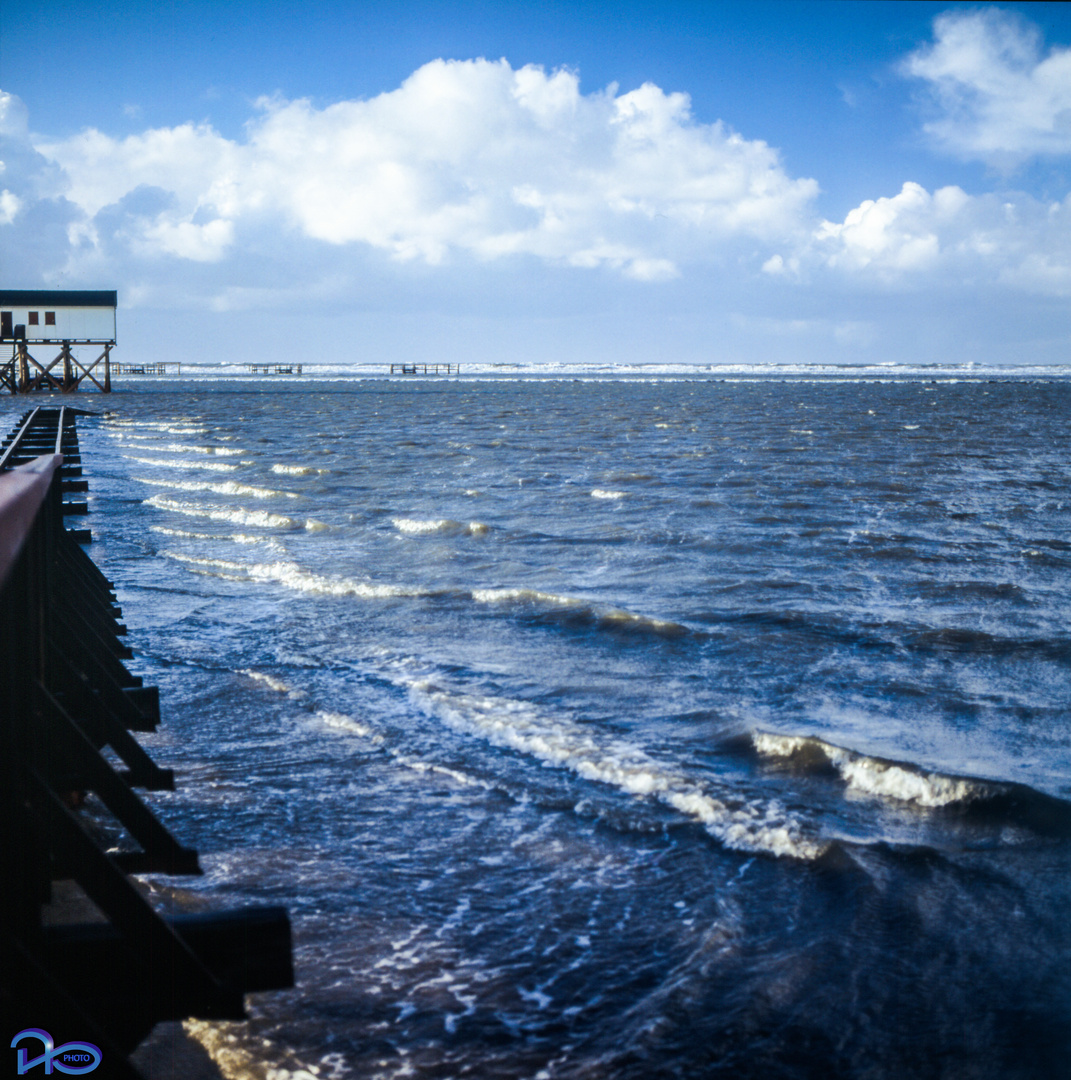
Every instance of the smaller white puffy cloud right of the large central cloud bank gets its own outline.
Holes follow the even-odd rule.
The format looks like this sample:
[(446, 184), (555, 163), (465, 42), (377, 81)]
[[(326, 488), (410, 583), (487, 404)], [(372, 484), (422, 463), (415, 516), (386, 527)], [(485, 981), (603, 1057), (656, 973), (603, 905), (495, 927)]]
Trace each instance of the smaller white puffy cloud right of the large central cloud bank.
[(958, 187), (931, 194), (909, 181), (842, 222), (823, 221), (802, 262), (886, 284), (1003, 284), (1071, 296), (1071, 195), (1046, 205)]

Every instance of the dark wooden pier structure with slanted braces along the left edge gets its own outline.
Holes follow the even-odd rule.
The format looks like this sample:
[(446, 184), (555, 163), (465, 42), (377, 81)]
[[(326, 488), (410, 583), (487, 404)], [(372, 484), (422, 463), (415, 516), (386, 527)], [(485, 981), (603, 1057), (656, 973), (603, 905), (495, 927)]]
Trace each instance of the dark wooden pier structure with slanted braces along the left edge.
[[(137, 795), (174, 777), (132, 734), (160, 703), (123, 664), (113, 584), (87, 530), (65, 528), (86, 487), (76, 410), (28, 413), (0, 450), (0, 1052), (14, 1064), (5, 1048), (35, 1029), (136, 1080), (127, 1055), (158, 1022), (241, 1020), (244, 994), (293, 985), (289, 921), (165, 918), (128, 876), (200, 867)], [(92, 918), (56, 919), (57, 893)]]

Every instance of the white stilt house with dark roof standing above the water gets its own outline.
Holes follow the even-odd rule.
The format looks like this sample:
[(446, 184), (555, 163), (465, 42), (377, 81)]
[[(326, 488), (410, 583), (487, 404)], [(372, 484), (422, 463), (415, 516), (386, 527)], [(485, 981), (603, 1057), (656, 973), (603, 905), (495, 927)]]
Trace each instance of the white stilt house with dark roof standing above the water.
[[(68, 392), (89, 379), (109, 393), (116, 305), (113, 289), (0, 289), (0, 346), (12, 346), (11, 360), (0, 366), (0, 389), (13, 394), (31, 390)], [(30, 353), (31, 346), (58, 346), (59, 352), (45, 364)], [(85, 365), (71, 352), (71, 346), (99, 346), (104, 352)]]

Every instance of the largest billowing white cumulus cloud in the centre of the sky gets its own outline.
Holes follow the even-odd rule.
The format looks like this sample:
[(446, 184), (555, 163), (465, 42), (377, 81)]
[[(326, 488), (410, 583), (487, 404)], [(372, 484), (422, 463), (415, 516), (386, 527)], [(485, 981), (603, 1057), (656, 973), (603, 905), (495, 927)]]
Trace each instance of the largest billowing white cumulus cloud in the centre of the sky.
[(98, 218), (165, 192), (121, 225), (130, 248), (219, 260), (243, 230), (283, 229), (398, 260), (534, 256), (640, 281), (734, 242), (802, 233), (814, 180), (684, 94), (647, 83), (582, 94), (566, 70), (435, 60), (397, 90), (316, 108), (266, 98), (243, 140), (184, 124), (123, 139), (86, 131), (37, 149), (99, 242)]

